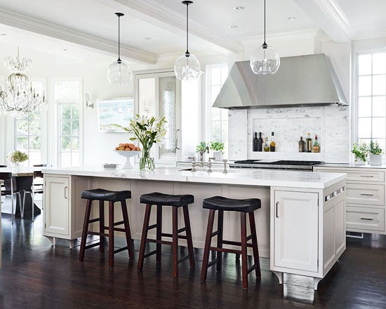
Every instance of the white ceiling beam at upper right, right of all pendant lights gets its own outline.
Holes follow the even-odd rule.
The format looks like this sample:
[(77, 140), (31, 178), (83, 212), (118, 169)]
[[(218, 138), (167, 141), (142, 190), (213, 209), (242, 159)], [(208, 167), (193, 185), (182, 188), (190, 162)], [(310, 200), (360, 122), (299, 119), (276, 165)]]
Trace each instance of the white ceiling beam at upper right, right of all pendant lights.
[(334, 0), (293, 0), (336, 43), (352, 40), (354, 33)]

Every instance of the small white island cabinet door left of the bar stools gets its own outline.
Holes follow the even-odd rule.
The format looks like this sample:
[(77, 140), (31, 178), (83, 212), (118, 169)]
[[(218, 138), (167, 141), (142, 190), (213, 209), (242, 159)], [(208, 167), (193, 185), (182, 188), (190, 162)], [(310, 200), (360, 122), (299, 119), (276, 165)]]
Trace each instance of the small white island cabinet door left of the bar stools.
[(69, 179), (46, 177), (44, 188), (44, 233), (69, 235)]

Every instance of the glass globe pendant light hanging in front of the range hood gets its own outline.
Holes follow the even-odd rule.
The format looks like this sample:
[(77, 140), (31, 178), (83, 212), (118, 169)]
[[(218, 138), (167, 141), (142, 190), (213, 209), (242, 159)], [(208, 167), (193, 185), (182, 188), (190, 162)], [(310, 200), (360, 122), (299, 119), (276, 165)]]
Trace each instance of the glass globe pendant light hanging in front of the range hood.
[(265, 42), (265, 0), (264, 0), (264, 43), (257, 48), (250, 60), (253, 73), (258, 75), (275, 74), (280, 67), (280, 57), (274, 48)]

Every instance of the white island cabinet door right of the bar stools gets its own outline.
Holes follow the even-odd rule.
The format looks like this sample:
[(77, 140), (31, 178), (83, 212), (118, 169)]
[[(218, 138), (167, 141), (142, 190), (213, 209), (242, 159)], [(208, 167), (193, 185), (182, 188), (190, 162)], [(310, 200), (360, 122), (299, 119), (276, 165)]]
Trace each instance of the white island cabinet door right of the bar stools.
[(318, 193), (275, 191), (274, 265), (318, 271)]

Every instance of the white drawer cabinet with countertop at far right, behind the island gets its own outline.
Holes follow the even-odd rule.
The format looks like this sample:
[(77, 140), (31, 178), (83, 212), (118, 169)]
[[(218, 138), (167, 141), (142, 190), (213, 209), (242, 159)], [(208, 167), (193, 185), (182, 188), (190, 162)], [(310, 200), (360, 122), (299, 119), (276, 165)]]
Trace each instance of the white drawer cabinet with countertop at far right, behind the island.
[(315, 167), (314, 171), (347, 173), (347, 231), (386, 233), (385, 170), (372, 167)]

